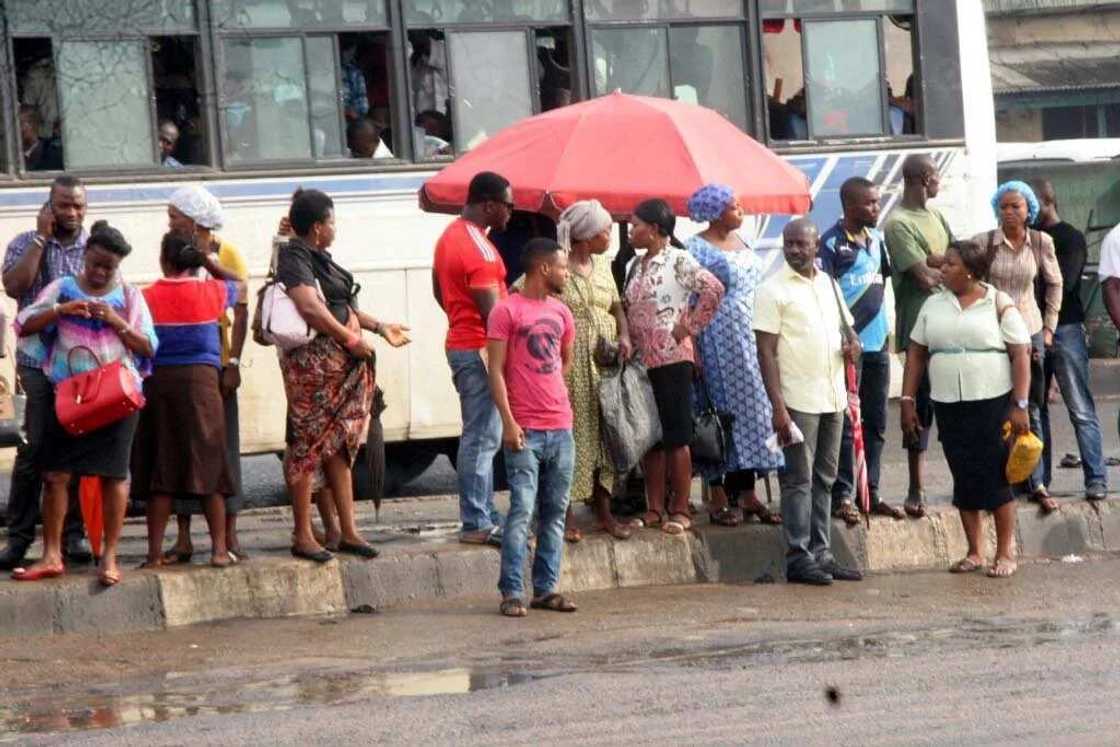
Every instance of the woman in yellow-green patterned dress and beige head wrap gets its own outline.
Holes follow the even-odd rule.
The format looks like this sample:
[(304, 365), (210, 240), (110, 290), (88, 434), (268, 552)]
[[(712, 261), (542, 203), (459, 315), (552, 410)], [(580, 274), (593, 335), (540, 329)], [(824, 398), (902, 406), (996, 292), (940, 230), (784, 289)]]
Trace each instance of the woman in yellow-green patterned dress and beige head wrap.
[[(626, 312), (610, 274), (610, 262), (604, 252), (610, 245), (610, 213), (597, 199), (579, 202), (560, 215), (557, 239), (568, 252), (571, 277), (561, 300), (571, 309), (576, 319), (576, 344), (571, 367), (564, 377), (573, 417), (572, 436), (576, 439), (576, 469), (571, 480), (572, 502), (591, 504), (599, 529), (625, 540), (631, 530), (619, 524), (610, 513), (610, 493), (615, 470), (607, 455), (600, 431), (599, 366), (595, 351), (600, 339), (617, 343), (618, 354), (625, 360), (631, 354)], [(564, 539), (578, 542), (579, 530), (571, 520)]]

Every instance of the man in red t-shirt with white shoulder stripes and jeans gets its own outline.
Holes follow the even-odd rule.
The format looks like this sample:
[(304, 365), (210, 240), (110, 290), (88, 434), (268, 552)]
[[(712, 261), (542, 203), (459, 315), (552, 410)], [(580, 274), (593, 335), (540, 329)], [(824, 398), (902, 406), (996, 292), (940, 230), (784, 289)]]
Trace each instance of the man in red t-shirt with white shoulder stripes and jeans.
[(459, 393), (463, 435), (455, 460), (459, 473), (460, 542), (502, 544), (502, 514), (494, 506), (494, 457), (502, 418), (486, 377), (486, 320), (505, 298), (505, 263), (487, 239), (513, 215), (510, 183), (492, 171), (475, 175), (463, 215), (436, 243), (431, 287), (447, 314), (447, 362)]

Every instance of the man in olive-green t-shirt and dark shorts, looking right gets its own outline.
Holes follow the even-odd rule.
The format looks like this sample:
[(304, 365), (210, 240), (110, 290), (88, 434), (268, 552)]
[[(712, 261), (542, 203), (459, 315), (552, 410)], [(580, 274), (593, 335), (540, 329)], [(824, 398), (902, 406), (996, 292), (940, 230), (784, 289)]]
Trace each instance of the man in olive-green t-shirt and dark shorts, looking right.
[[(933, 159), (922, 153), (907, 157), (903, 162), (903, 183), (902, 203), (892, 211), (884, 227), (895, 290), (895, 337), (900, 351), (909, 345), (911, 328), (925, 299), (941, 284), (941, 263), (953, 237), (945, 216), (926, 205), (937, 196), (941, 187), (941, 175)], [(930, 426), (933, 424), (928, 376), (923, 377), (918, 389), (917, 413), (920, 436), (904, 443), (909, 465), (905, 507), (915, 519), (925, 515), (922, 473), (924, 454), (930, 446)]]

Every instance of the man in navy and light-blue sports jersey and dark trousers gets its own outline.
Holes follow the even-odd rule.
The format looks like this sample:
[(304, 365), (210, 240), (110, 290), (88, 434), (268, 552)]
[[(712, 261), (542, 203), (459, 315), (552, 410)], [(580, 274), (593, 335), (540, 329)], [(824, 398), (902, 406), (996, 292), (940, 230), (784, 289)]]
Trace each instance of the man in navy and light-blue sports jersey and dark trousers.
[[(852, 177), (840, 187), (843, 215), (821, 236), (818, 253), (821, 269), (836, 279), (843, 301), (852, 316), (864, 353), (856, 364), (859, 377), (859, 405), (867, 456), (867, 484), (871, 513), (905, 519), (902, 508), (879, 499), (879, 464), (887, 442), (887, 395), (890, 390), (890, 353), (887, 338), (890, 325), (884, 305), (890, 261), (879, 222), (879, 188), (864, 177)], [(840, 438), (840, 466), (832, 484), (832, 515), (849, 525), (859, 523), (852, 503), (856, 494), (851, 423), (844, 415)]]

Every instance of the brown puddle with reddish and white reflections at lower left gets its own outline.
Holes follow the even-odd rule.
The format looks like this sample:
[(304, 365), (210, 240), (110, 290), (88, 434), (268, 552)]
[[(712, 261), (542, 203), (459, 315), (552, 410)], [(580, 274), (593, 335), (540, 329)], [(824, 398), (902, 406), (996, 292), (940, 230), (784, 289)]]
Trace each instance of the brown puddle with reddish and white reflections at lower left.
[(448, 669), (431, 672), (301, 672), (298, 675), (207, 687), (195, 675), (168, 675), (153, 692), (83, 693), (44, 697), (16, 707), (0, 706), (0, 743), (24, 736), (113, 729), (193, 716), (227, 716), (336, 706), (371, 698), (414, 698), (508, 688), (541, 679), (524, 672)]

